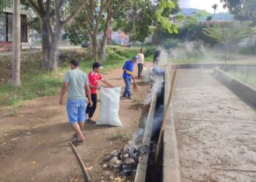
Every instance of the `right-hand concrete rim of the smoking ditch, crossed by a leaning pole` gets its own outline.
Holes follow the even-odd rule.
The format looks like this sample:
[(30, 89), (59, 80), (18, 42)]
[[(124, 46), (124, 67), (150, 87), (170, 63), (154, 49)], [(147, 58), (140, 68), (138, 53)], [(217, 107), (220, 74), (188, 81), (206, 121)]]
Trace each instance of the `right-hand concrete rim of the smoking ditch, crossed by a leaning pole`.
[[(171, 80), (172, 75), (170, 75), (170, 66), (165, 66), (165, 108), (167, 105), (167, 98), (169, 97)], [(181, 173), (172, 103), (167, 115), (162, 146), (162, 181), (180, 182)]]

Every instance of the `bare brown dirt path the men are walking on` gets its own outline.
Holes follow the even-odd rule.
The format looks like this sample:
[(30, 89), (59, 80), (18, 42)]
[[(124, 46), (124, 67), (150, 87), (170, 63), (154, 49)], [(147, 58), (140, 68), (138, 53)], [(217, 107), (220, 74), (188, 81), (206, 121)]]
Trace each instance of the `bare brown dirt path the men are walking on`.
[[(102, 76), (124, 89), (121, 74), (118, 69)], [(92, 181), (102, 181), (105, 154), (127, 143), (122, 138), (110, 138), (118, 132), (132, 137), (138, 128), (141, 109), (131, 106), (142, 101), (150, 88), (149, 84), (138, 82), (140, 91), (132, 94), (132, 100), (121, 100), (119, 117), (123, 127), (85, 125), (86, 142), (76, 148), (86, 167), (92, 167)], [(29, 100), (19, 108), (0, 108), (0, 181), (83, 181), (82, 170), (69, 146), (74, 131), (67, 122), (65, 106), (58, 102), (56, 95)], [(94, 114), (96, 120), (99, 108), (98, 105)]]

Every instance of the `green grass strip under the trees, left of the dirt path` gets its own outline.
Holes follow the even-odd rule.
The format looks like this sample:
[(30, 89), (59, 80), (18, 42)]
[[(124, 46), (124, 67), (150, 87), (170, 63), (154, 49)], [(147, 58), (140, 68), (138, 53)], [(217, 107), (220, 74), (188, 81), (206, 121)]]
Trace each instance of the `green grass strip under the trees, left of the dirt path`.
[[(138, 48), (108, 47), (106, 60), (100, 61), (104, 66), (102, 73), (114, 68), (121, 68), (126, 60), (137, 55), (138, 52)], [(24, 100), (56, 95), (61, 90), (64, 73), (70, 69), (69, 60), (70, 58), (67, 58), (66, 61), (60, 62), (59, 70), (56, 72), (42, 71), (41, 61), (31, 62), (27, 60), (22, 62), (20, 66), (21, 87), (13, 87), (10, 81), (2, 83), (0, 87), (0, 106), (22, 106)], [(80, 70), (88, 73), (92, 64), (92, 59), (80, 60)]]

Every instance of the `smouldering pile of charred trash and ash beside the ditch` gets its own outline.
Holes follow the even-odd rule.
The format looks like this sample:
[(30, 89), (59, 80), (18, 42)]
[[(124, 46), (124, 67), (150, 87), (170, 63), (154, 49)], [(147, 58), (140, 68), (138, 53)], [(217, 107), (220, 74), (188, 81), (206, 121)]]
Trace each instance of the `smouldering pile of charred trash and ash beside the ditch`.
[(140, 154), (148, 152), (149, 148), (141, 145), (139, 147), (124, 146), (121, 151), (111, 151), (105, 157), (103, 168), (107, 171), (103, 177), (110, 181), (118, 181), (118, 178), (125, 178), (126, 181), (134, 179)]

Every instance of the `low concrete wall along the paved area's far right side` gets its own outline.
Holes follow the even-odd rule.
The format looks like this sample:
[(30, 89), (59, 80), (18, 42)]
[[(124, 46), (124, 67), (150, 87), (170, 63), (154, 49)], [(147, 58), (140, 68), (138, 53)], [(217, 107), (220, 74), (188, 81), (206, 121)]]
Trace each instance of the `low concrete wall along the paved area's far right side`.
[(238, 79), (230, 76), (219, 68), (214, 68), (213, 76), (232, 92), (234, 92), (239, 98), (246, 103), (256, 107), (256, 89), (239, 81)]

